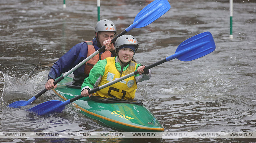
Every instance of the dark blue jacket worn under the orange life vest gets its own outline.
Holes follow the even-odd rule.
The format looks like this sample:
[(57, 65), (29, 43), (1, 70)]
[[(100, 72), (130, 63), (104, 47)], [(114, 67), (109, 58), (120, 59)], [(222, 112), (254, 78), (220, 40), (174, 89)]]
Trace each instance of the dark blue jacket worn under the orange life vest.
[[(100, 48), (99, 47), (100, 44), (98, 44), (96, 38), (92, 40), (92, 43), (95, 51), (97, 51)], [(100, 54), (102, 53), (103, 52), (101, 52)], [(76, 66), (86, 58), (87, 58), (86, 42), (76, 44), (66, 54), (61, 56), (58, 61), (54, 63), (54, 65), (51, 67), (50, 72), (48, 74), (48, 80), (49, 79), (55, 80), (56, 78), (60, 77), (62, 73), (68, 72), (70, 69), (72, 69), (74, 66)], [(76, 69), (73, 72), (73, 74), (76, 76), (85, 76), (84, 67), (85, 67), (85, 64), (83, 64), (78, 69)]]

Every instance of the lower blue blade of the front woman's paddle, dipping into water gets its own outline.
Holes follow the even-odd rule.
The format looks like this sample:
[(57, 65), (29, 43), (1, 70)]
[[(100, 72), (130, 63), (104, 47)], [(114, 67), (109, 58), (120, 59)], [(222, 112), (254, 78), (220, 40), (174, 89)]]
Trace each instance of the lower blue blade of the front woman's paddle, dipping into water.
[(59, 100), (51, 100), (51, 101), (47, 101), (39, 105), (36, 105), (35, 107), (28, 109), (27, 111), (39, 116), (52, 113), (52, 112), (60, 113), (65, 108), (65, 105), (60, 106), (62, 105), (62, 103), (63, 102)]

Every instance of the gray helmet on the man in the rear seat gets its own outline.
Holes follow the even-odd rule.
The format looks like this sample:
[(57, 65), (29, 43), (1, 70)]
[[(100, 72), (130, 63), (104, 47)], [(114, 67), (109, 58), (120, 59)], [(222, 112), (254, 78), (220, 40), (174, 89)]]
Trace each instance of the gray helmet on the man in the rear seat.
[(95, 27), (95, 32), (98, 33), (99, 31), (113, 31), (114, 34), (117, 33), (117, 27), (111, 20), (102, 19), (97, 22)]

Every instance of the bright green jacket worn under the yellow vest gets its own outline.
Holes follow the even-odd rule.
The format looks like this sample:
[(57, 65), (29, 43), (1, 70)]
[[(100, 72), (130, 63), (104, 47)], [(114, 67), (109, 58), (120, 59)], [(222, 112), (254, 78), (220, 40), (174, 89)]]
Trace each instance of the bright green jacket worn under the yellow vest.
[[(116, 60), (117, 56), (115, 57)], [(93, 89), (98, 87), (99, 82), (101, 80), (101, 78), (103, 77), (104, 73), (105, 73), (105, 67), (107, 65), (107, 59), (104, 60), (100, 60), (98, 61), (92, 68), (92, 70), (90, 71), (89, 77), (84, 79), (84, 83), (81, 86), (81, 91), (85, 88), (89, 88), (89, 89)], [(121, 71), (121, 65), (119, 62), (115, 63), (117, 70)], [(129, 64), (127, 64), (127, 66), (124, 67), (123, 71), (125, 71), (128, 68)], [(141, 66), (141, 64), (137, 64), (136, 70), (137, 68)], [(149, 80), (151, 77), (151, 71), (149, 69), (149, 74), (145, 75), (145, 74), (136, 74), (134, 75), (136, 82), (142, 82), (144, 80)]]

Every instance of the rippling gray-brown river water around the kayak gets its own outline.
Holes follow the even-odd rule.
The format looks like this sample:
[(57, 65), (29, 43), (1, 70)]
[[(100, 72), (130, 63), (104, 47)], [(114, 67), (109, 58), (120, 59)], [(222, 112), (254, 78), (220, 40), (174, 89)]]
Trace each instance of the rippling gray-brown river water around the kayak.
[[(142, 0), (101, 1), (101, 19), (111, 19), (122, 32), (149, 4)], [(152, 69), (152, 78), (139, 84), (136, 98), (157, 117), (166, 132), (256, 132), (255, 22), (256, 2), (233, 2), (233, 36), (229, 39), (229, 1), (169, 1), (171, 9), (154, 23), (129, 34), (139, 41), (135, 59), (152, 64), (175, 53), (196, 34), (210, 31), (216, 50), (194, 61), (172, 61)], [(9, 109), (42, 89), (51, 65), (72, 46), (94, 37), (97, 3), (89, 1), (0, 2), (0, 132), (112, 132), (88, 119), (72, 105), (63, 113), (36, 117), (33, 107)], [(34, 104), (59, 100), (49, 91)], [(37, 142), (35, 138), (1, 142)], [(43, 139), (43, 142), (255, 142), (253, 139)]]

